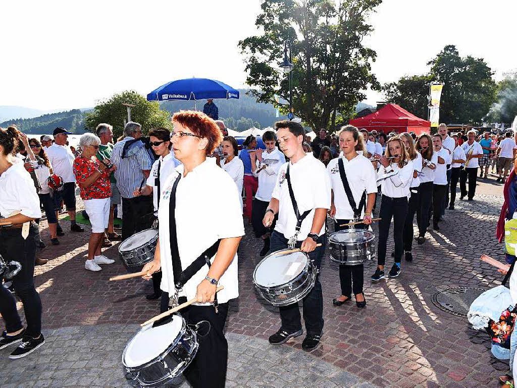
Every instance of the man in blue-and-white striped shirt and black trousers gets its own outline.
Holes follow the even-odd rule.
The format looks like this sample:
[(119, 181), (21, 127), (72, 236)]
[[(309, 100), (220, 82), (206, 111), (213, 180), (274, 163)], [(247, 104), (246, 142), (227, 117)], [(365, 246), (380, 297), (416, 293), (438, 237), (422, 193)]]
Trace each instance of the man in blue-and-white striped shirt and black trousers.
[[(153, 213), (153, 198), (135, 197), (133, 192), (143, 186), (153, 161), (142, 142), (135, 142), (142, 137), (142, 125), (129, 122), (124, 127), (124, 139), (113, 147), (111, 162), (117, 166), (115, 179), (122, 197), (122, 240), (150, 227), (150, 214)], [(126, 146), (131, 142), (131, 146)], [(148, 222), (147, 222), (148, 221)]]

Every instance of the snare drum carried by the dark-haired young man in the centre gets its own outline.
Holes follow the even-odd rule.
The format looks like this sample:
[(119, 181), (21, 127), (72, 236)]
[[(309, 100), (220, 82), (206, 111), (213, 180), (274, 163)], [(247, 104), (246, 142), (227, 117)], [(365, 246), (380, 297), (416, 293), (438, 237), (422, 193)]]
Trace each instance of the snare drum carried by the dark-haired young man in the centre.
[(287, 306), (302, 300), (316, 282), (318, 269), (305, 252), (273, 252), (253, 271), (253, 283), (273, 306)]

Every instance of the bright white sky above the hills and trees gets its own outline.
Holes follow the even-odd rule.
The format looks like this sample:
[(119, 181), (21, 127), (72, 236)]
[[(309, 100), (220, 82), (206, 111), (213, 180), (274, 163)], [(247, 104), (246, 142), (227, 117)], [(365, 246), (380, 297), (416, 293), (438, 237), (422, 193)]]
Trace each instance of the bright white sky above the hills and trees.
[[(239, 40), (256, 35), (260, 0), (3, 2), (0, 105), (93, 107), (190, 77), (246, 87)], [(517, 69), (514, 0), (384, 0), (364, 43), (381, 83), (421, 74), (446, 44), (484, 58), (500, 80)], [(367, 92), (374, 104), (382, 95)]]

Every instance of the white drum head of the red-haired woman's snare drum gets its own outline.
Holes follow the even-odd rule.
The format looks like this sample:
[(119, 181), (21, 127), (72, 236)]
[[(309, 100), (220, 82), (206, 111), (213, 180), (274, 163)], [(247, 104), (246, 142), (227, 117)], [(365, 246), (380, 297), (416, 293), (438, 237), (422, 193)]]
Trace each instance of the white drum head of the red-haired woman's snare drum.
[(177, 315), (171, 322), (158, 327), (143, 327), (126, 346), (122, 360), (124, 365), (134, 368), (152, 361), (173, 344), (181, 327), (183, 318)]

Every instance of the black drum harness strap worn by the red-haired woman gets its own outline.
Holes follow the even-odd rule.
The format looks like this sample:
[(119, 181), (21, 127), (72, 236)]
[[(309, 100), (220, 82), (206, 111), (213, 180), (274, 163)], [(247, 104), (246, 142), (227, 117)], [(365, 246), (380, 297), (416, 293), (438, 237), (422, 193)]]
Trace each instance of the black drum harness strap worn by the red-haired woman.
[[(207, 248), (201, 255), (195, 259), (185, 271), (181, 271), (181, 262), (179, 260), (179, 250), (178, 250), (178, 237), (176, 234), (176, 188), (178, 186), (178, 182), (181, 178), (181, 174), (178, 174), (176, 181), (174, 181), (174, 185), (171, 189), (171, 197), (169, 202), (169, 232), (170, 232), (170, 244), (171, 244), (171, 259), (172, 259), (172, 270), (174, 274), (174, 286), (175, 292), (171, 297), (172, 307), (179, 305), (179, 293), (183, 290), (183, 286), (189, 281), (192, 276), (194, 276), (201, 268), (206, 264), (208, 268), (210, 268), (210, 258), (213, 257), (217, 249), (219, 248), (219, 243), (221, 240), (217, 240), (211, 247)], [(214, 297), (214, 308), (216, 309), (216, 314), (219, 313), (218, 303), (217, 303), (217, 293)]]

